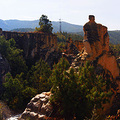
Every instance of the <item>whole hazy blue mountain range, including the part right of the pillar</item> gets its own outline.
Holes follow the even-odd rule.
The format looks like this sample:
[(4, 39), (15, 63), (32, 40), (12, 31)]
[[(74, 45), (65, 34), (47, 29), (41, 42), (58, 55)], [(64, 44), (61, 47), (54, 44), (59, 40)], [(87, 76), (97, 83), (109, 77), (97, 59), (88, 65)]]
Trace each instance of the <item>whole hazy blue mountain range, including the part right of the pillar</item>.
[[(53, 32), (59, 32), (60, 23), (59, 21), (52, 21)], [(0, 19), (0, 28), (4, 31), (19, 31), (19, 32), (29, 32), (34, 31), (35, 27), (39, 27), (39, 20), (33, 21), (23, 21), (23, 20), (1, 20)], [(83, 36), (83, 26), (70, 24), (67, 22), (61, 23), (62, 32), (68, 33), (77, 33)], [(109, 31), (110, 43), (120, 44), (120, 31)]]

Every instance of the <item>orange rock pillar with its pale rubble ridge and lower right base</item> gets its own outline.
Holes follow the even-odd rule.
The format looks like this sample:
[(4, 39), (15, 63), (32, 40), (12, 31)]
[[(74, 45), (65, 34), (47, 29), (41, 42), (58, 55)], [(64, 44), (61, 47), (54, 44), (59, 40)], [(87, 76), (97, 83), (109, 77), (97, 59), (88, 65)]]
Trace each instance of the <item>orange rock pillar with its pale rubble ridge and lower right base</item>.
[[(112, 82), (112, 90), (114, 91), (114, 95), (110, 99), (110, 104), (104, 105), (103, 113), (113, 113), (117, 111), (120, 106), (120, 69), (116, 61), (116, 57), (113, 52), (109, 48), (109, 35), (107, 32), (107, 27), (93, 23), (94, 25), (90, 27), (89, 35), (86, 35), (88, 31), (85, 32), (84, 39), (84, 48), (83, 51), (79, 52), (77, 56), (73, 59), (73, 62), (70, 68), (74, 68), (75, 71), (78, 71), (79, 66), (86, 63), (86, 61), (90, 61), (94, 67), (95, 72), (97, 74), (104, 74), (104, 78), (108, 78)], [(90, 24), (91, 25), (91, 24)], [(89, 42), (90, 35), (94, 32), (94, 28), (96, 28), (94, 40)], [(87, 28), (87, 30), (89, 30)], [(97, 35), (96, 35), (97, 34)], [(90, 40), (92, 40), (90, 38)], [(68, 70), (69, 72), (69, 70)]]

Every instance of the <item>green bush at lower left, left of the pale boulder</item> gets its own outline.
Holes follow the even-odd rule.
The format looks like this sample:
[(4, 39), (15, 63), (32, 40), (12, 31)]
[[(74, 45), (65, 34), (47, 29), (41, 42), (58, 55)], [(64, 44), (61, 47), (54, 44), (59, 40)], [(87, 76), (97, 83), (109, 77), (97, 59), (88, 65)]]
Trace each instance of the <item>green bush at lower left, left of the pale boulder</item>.
[(15, 78), (10, 73), (6, 75), (4, 93), (2, 99), (14, 110), (24, 109), (30, 99), (37, 94), (32, 87), (25, 86), (23, 73), (17, 74)]

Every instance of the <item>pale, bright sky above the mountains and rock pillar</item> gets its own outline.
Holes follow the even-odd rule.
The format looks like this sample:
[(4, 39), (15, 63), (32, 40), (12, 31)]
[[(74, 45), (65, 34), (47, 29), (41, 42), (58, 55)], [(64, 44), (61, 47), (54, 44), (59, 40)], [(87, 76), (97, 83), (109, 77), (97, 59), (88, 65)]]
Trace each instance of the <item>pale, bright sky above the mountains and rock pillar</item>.
[(50, 21), (84, 25), (89, 15), (95, 21), (120, 30), (120, 0), (0, 0), (0, 19), (38, 20), (42, 14)]

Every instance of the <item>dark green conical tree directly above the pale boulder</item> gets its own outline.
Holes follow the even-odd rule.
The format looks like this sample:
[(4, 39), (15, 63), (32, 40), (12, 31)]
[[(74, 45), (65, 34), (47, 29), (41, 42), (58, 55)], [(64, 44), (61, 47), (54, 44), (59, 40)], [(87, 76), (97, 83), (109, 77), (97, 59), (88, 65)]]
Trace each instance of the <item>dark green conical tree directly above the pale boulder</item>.
[(51, 88), (49, 84), (50, 75), (50, 67), (44, 60), (40, 59), (27, 74), (28, 86), (35, 88), (38, 93), (49, 91)]

